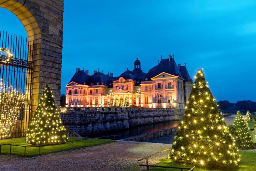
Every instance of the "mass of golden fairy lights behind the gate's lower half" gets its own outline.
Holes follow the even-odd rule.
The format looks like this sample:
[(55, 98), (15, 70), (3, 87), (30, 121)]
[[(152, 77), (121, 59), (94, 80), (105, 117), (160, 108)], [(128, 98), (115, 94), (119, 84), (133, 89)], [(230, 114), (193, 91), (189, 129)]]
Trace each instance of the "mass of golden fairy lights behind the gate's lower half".
[(0, 82), (0, 139), (9, 138), (19, 113), (24, 110), (25, 95)]

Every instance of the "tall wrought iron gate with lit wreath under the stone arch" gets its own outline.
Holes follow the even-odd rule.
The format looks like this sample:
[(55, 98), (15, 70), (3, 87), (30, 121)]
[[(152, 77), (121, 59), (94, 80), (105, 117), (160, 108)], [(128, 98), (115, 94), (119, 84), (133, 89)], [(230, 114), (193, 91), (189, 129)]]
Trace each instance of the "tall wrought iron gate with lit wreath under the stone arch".
[(23, 137), (31, 115), (33, 41), (0, 30), (0, 139)]

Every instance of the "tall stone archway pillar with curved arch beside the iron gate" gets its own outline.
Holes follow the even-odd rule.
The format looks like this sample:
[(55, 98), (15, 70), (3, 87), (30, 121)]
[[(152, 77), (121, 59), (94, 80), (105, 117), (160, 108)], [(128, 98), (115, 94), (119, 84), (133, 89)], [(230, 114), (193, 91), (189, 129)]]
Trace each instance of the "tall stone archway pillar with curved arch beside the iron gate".
[(11, 11), (34, 41), (32, 71), (32, 113), (48, 84), (60, 105), (62, 62), (63, 0), (0, 0), (0, 7)]

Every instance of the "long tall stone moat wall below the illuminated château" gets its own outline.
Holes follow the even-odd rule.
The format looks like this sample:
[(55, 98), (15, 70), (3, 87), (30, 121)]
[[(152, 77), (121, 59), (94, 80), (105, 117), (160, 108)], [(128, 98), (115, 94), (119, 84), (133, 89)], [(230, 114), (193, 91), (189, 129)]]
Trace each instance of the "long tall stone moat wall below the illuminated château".
[(146, 108), (83, 108), (62, 113), (63, 124), (77, 134), (89, 135), (132, 126), (180, 120), (182, 110)]

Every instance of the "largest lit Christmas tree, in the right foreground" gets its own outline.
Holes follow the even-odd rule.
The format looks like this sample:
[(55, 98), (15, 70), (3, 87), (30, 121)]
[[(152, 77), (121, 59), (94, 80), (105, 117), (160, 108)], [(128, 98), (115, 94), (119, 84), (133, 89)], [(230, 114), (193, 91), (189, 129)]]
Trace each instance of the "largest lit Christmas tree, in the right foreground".
[(240, 155), (202, 70), (198, 70), (170, 157), (201, 167), (232, 168)]

